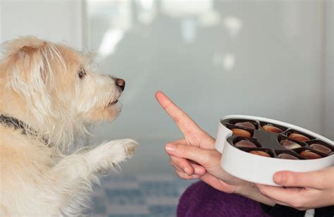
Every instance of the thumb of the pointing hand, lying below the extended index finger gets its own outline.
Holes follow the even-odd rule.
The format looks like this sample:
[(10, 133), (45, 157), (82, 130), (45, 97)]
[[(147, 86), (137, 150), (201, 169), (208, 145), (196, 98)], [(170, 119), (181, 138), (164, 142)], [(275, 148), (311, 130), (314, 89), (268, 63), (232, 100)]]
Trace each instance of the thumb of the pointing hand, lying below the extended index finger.
[(221, 159), (221, 154), (215, 149), (201, 149), (187, 144), (166, 144), (168, 154), (183, 159), (190, 159), (204, 167), (214, 166)]

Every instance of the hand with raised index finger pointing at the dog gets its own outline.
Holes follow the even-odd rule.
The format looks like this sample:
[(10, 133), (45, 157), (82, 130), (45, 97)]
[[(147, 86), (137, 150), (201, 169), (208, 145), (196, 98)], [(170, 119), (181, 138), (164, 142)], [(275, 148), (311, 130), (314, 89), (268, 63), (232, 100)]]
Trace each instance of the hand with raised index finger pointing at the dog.
[(213, 137), (199, 128), (165, 94), (157, 92), (156, 99), (185, 135), (183, 140), (166, 144), (171, 166), (175, 168), (175, 173), (180, 178), (200, 178), (217, 190), (242, 194), (245, 197), (273, 206), (274, 203), (260, 194), (253, 183), (240, 180), (223, 171), (220, 164), (221, 154), (214, 148)]

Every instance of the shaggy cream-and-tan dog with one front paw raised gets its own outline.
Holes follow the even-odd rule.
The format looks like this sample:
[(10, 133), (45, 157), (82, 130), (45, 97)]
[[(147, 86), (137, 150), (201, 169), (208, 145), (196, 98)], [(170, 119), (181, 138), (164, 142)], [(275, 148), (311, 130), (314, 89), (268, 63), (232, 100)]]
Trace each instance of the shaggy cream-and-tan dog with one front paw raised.
[(75, 146), (118, 116), (125, 87), (92, 56), (32, 36), (1, 44), (0, 216), (85, 214), (99, 175), (134, 154), (130, 139)]

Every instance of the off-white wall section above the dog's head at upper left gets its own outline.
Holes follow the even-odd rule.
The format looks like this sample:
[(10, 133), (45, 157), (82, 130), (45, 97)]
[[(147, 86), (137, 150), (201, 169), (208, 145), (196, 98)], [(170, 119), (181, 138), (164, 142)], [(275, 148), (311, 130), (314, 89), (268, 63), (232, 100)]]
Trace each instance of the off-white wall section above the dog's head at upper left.
[(1, 0), (0, 42), (35, 35), (82, 47), (82, 1)]

